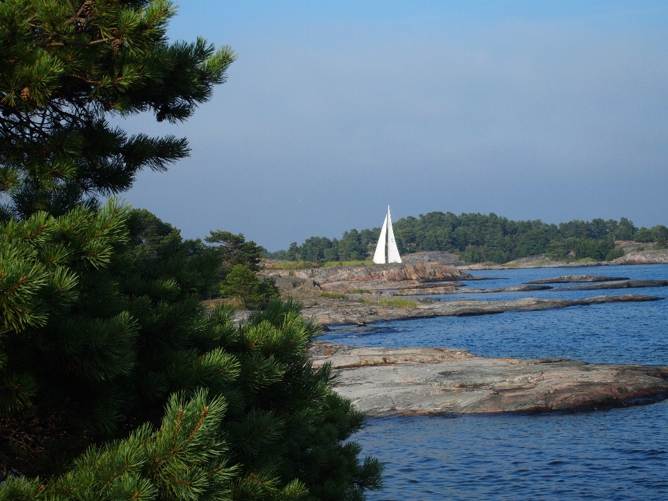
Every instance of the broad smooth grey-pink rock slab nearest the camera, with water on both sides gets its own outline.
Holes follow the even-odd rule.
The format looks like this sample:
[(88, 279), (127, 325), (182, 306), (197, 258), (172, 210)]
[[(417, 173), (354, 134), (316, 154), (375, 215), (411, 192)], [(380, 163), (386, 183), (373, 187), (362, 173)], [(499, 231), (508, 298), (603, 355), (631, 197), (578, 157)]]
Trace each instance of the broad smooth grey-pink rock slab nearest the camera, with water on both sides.
[(578, 411), (668, 397), (668, 367), (328, 342), (314, 342), (310, 356), (339, 370), (335, 390), (369, 416)]

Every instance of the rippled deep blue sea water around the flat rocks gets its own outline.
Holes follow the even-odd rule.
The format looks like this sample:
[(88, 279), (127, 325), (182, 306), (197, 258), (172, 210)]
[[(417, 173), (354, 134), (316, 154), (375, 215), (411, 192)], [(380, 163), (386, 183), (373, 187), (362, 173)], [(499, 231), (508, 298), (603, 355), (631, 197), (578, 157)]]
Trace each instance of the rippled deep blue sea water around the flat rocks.
[[(473, 271), (491, 289), (564, 275), (668, 280), (668, 265)], [(440, 301), (575, 299), (668, 287), (430, 296)], [(374, 331), (333, 328), (322, 340), (358, 346), (447, 347), (488, 358), (564, 357), (668, 365), (668, 301), (611, 303), (479, 317), (385, 321)], [(539, 415), (369, 418), (353, 436), (385, 465), (389, 500), (667, 500), (668, 401), (607, 411)]]

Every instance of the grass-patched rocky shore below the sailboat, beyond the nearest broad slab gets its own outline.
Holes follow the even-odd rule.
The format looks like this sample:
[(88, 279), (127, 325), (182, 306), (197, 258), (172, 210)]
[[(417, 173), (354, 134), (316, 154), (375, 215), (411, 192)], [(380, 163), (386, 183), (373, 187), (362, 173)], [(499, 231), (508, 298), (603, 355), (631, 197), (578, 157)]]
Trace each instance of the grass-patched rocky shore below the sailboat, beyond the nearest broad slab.
[[(490, 315), (511, 311), (547, 310), (591, 304), (658, 301), (657, 296), (624, 294), (583, 299), (523, 298), (512, 301), (438, 301), (425, 296), (445, 294), (485, 294), (489, 292), (530, 292), (552, 289), (550, 285), (527, 284), (491, 289), (472, 289), (464, 280), (486, 280), (471, 276), (453, 265), (438, 262), (376, 264), (297, 270), (267, 269), (283, 296), (302, 301), (305, 317), (319, 324), (368, 324), (374, 321), (439, 316)], [(596, 283), (598, 279), (611, 280)], [(580, 276), (552, 278), (556, 283), (575, 280), (593, 282), (591, 288), (632, 288), (668, 285), (665, 280), (627, 280), (620, 277)], [(580, 286), (575, 286), (580, 287)], [(582, 286), (589, 287), (589, 285)], [(564, 290), (559, 287), (555, 290)], [(398, 297), (397, 297), (398, 296)], [(422, 296), (415, 300), (405, 296)]]

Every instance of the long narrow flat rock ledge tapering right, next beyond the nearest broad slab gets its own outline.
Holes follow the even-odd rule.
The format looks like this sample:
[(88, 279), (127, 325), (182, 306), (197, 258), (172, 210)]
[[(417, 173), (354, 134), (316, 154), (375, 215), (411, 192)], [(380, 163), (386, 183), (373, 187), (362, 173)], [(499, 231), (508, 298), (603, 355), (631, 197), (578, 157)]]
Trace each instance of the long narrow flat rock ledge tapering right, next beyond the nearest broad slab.
[(388, 308), (374, 304), (337, 303), (304, 308), (307, 319), (323, 325), (369, 324), (375, 321), (428, 317), (466, 317), (492, 315), (509, 311), (548, 310), (605, 303), (628, 303), (658, 301), (662, 298), (639, 294), (620, 296), (594, 296), (584, 299), (537, 299), (523, 298), (514, 301), (437, 301), (429, 304), (415, 303), (414, 308)]

